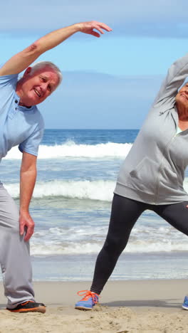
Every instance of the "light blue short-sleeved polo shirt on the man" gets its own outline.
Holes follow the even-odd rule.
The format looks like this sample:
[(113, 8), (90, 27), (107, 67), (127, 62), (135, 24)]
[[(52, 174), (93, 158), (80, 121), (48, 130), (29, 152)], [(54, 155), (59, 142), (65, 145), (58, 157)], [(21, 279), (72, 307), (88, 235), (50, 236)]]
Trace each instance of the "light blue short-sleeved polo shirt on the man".
[(17, 145), (21, 152), (37, 156), (43, 137), (43, 117), (36, 106), (19, 105), (17, 81), (17, 74), (0, 76), (0, 160)]

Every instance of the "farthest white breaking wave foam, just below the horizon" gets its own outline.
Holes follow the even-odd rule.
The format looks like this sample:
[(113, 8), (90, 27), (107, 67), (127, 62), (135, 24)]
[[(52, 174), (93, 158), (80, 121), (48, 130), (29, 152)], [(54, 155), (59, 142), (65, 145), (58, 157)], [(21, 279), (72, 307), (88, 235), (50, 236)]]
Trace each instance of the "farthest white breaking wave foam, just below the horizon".
[[(130, 151), (132, 144), (117, 144), (108, 142), (106, 144), (75, 144), (68, 141), (65, 144), (55, 146), (41, 145), (38, 151), (38, 159), (61, 159), (63, 157), (88, 157), (94, 159), (125, 158)], [(17, 147), (13, 147), (6, 155), (5, 159), (21, 159), (21, 152)]]

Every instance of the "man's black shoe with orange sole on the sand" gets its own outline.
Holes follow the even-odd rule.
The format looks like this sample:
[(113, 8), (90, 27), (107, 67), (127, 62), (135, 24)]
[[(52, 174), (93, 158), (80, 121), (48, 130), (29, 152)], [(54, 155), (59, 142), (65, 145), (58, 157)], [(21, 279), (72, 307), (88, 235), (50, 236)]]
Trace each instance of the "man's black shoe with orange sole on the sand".
[(9, 307), (6, 307), (6, 310), (9, 310), (11, 312), (46, 312), (46, 306), (43, 303), (36, 303), (31, 300), (28, 300), (24, 303), (21, 303), (17, 305), (17, 307), (14, 307), (14, 309), (9, 309)]

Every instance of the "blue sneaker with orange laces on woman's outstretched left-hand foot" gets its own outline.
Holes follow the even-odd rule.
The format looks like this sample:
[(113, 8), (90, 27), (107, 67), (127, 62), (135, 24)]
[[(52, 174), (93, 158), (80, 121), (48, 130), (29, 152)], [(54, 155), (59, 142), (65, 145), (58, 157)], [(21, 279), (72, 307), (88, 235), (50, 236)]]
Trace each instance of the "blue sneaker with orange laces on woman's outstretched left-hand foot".
[[(82, 293), (80, 293), (82, 292)], [(83, 296), (82, 300), (75, 303), (75, 309), (79, 310), (92, 310), (95, 304), (98, 303), (98, 294), (90, 290), (81, 290), (78, 295)]]

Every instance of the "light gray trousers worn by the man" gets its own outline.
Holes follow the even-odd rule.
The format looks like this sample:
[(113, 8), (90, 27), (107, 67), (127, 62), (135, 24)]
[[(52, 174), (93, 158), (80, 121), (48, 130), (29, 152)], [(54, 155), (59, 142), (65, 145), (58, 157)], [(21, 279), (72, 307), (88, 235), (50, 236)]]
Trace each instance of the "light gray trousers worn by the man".
[(19, 210), (0, 185), (0, 263), (7, 307), (13, 309), (26, 300), (34, 301), (29, 244), (19, 235)]

